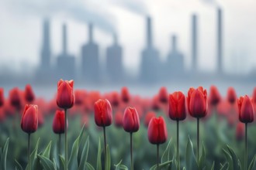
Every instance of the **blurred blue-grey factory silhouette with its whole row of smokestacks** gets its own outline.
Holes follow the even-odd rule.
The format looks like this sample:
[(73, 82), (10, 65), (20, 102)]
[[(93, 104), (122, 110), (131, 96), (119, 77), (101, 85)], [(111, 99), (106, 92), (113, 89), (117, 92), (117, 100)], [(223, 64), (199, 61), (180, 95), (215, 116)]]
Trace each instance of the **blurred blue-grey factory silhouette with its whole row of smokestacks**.
[[(217, 68), (214, 76), (224, 76), (223, 73), (223, 14), (221, 8), (216, 8), (216, 59)], [(193, 79), (199, 77), (198, 53), (199, 53), (199, 32), (198, 15), (193, 14), (191, 18), (191, 53), (192, 68), (185, 70), (184, 55), (178, 49), (178, 36), (171, 36), (171, 49), (167, 59), (162, 62), (160, 53), (154, 47), (154, 35), (152, 29), (153, 20), (146, 17), (146, 43), (141, 53), (140, 73), (136, 78), (129, 75), (123, 66), (123, 48), (119, 45), (118, 36), (113, 33), (112, 45), (106, 49), (106, 62), (104, 66), (99, 64), (99, 45), (93, 39), (93, 23), (88, 24), (88, 42), (81, 46), (81, 55), (73, 56), (68, 52), (67, 46), (67, 25), (62, 27), (62, 53), (53, 61), (50, 46), (50, 21), (43, 21), (43, 43), (40, 53), (40, 68), (34, 75), (36, 82), (47, 82), (47, 80), (81, 80), (86, 83), (159, 83), (172, 79)], [(78, 59), (79, 61), (76, 61)], [(213, 76), (210, 75), (210, 76)], [(209, 75), (204, 77), (209, 78)]]

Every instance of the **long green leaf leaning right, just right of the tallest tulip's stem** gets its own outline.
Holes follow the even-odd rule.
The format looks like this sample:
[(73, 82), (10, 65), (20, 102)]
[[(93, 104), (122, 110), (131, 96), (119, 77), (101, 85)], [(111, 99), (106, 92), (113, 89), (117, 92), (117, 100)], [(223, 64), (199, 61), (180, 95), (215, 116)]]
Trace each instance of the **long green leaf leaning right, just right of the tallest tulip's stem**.
[(81, 141), (81, 136), (85, 131), (85, 125), (83, 128), (81, 128), (80, 134), (78, 138), (74, 141), (74, 144), (72, 146), (71, 150), (71, 156), (68, 160), (68, 169), (78, 169), (78, 149), (79, 149), (79, 143)]

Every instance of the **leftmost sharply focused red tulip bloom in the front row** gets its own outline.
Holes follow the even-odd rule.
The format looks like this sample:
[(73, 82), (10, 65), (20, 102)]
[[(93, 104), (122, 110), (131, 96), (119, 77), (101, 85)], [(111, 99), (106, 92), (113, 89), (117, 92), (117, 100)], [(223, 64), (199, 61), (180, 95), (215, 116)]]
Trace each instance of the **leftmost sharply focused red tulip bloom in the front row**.
[(30, 134), (37, 130), (38, 127), (38, 109), (37, 105), (26, 104), (22, 114), (21, 128), (22, 131)]

